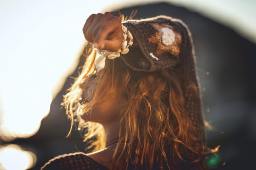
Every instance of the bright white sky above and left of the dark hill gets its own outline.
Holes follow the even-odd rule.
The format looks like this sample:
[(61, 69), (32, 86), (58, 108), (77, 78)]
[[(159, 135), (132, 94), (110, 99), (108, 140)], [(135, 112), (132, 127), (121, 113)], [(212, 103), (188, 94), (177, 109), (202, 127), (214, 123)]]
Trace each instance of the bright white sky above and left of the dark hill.
[[(34, 135), (76, 68), (91, 14), (157, 0), (0, 0), (0, 136)], [(167, 0), (256, 42), (256, 0)]]

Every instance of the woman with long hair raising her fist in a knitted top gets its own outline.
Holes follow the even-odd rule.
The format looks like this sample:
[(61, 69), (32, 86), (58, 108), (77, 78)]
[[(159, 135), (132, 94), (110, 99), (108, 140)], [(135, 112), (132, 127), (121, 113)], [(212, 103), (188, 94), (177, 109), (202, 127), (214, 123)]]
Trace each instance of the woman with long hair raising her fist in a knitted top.
[[(124, 31), (130, 37), (125, 52)], [(71, 129), (79, 121), (85, 141), (97, 137), (87, 148), (92, 152), (60, 155), (42, 169), (206, 169), (201, 89), (187, 26), (167, 16), (127, 20), (106, 12), (88, 17), (83, 34), (94, 48), (62, 105)], [(120, 49), (123, 54), (111, 59), (102, 53)]]

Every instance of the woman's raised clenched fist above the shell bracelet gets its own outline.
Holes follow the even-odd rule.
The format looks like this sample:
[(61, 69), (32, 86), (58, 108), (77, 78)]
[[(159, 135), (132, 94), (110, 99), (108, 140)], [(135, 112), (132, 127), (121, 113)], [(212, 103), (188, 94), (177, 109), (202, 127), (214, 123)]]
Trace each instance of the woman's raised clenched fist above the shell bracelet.
[(99, 50), (117, 51), (122, 44), (123, 33), (119, 17), (110, 12), (92, 14), (83, 26), (85, 39)]

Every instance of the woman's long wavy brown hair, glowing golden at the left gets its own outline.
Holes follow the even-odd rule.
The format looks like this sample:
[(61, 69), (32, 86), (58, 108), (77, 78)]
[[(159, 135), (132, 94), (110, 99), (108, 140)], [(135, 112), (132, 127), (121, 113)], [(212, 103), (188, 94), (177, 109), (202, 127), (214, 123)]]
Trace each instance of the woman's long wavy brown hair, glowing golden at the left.
[[(89, 43), (87, 47), (89, 50), (83, 69), (61, 103), (71, 119), (68, 135), (77, 120), (79, 129), (87, 129), (84, 134), (84, 141), (90, 143), (87, 149), (94, 152), (104, 148), (102, 125), (84, 121), (80, 115), (89, 114), (93, 107), (111, 95), (121, 95), (125, 99), (120, 112), (120, 122), (125, 121), (121, 154), (126, 155), (127, 170), (205, 170), (204, 126), (196, 128), (187, 117), (182, 74), (173, 68), (138, 72), (128, 68), (119, 57), (114, 60), (107, 58), (105, 68), (99, 72), (97, 86), (91, 93), (91, 102), (80, 103), (81, 84), (96, 73), (94, 61), (97, 51)], [(107, 87), (116, 90), (110, 92)], [(196, 85), (193, 89), (199, 95)], [(94, 136), (97, 136), (96, 140), (90, 140)], [(113, 155), (114, 165), (120, 161), (119, 147), (118, 143)]]

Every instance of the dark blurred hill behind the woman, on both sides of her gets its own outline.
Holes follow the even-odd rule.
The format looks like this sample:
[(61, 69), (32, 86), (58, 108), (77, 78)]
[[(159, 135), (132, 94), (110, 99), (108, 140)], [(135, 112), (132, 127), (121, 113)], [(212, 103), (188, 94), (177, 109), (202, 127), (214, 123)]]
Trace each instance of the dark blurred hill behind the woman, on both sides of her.
[[(220, 145), (218, 157), (209, 165), (218, 170), (251, 169), (256, 151), (256, 44), (211, 19), (169, 3), (125, 8), (120, 12), (129, 16), (134, 9), (138, 10), (135, 18), (166, 15), (188, 25), (194, 38), (205, 119), (214, 127), (207, 130), (207, 144), (210, 148)], [(84, 59), (81, 56), (78, 67)], [(78, 69), (71, 77), (77, 76)], [(35, 150), (35, 170), (54, 156), (84, 149), (85, 143), (75, 128), (71, 137), (65, 138), (70, 121), (65, 109), (60, 109), (62, 95), (73, 82), (72, 78), (67, 79), (35, 136), (10, 142)]]

